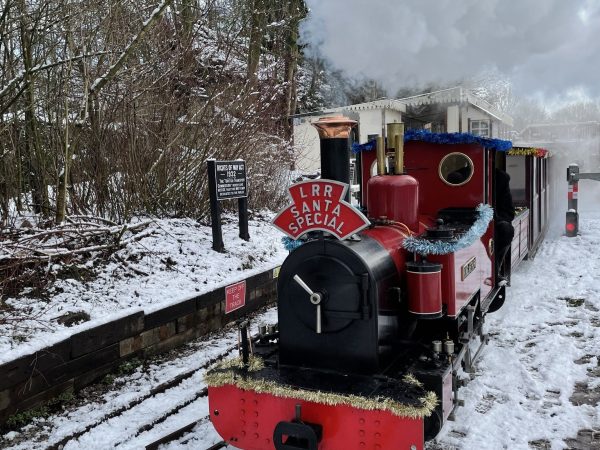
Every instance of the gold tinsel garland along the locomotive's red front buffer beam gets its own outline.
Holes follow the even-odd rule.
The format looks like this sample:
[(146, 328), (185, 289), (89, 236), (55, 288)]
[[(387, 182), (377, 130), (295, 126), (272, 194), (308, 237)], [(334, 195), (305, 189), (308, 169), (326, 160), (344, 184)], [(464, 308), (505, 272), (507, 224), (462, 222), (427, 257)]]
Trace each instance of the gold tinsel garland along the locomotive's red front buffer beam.
[[(399, 417), (419, 419), (429, 416), (438, 404), (435, 392), (427, 392), (419, 398), (421, 406), (412, 406), (399, 403), (387, 397), (365, 398), (353, 394), (335, 394), (331, 392), (308, 391), (292, 386), (286, 386), (262, 379), (252, 379), (241, 376), (234, 368), (242, 368), (241, 359), (236, 358), (219, 364), (210, 370), (204, 377), (209, 387), (221, 387), (228, 384), (238, 389), (253, 391), (258, 394), (270, 394), (275, 397), (299, 399), (309, 402), (321, 403), (329, 406), (350, 406), (367, 411), (383, 410)], [(258, 357), (251, 357), (249, 372), (257, 372), (264, 367), (263, 361)], [(422, 387), (422, 384), (412, 375), (406, 375), (404, 382)]]

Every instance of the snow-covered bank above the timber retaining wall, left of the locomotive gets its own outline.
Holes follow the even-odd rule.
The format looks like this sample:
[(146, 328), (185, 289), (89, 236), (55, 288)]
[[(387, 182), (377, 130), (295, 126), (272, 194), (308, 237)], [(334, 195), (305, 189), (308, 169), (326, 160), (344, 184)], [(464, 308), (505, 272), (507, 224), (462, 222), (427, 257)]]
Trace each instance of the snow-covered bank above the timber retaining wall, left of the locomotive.
[[(116, 252), (119, 259), (99, 269), (82, 268), (99, 270), (92, 279), (58, 279), (48, 293), (50, 300), (9, 298), (6, 304), (12, 311), (0, 314), (31, 319), (0, 325), (0, 364), (87, 328), (140, 310), (152, 312), (281, 264), (287, 251), (271, 218), (270, 213), (255, 214), (249, 221), (249, 242), (239, 238), (236, 219), (224, 218), (225, 253), (212, 250), (209, 226), (192, 219), (156, 220), (146, 237)], [(76, 311), (88, 313), (90, 320), (70, 328), (56, 321)]]

